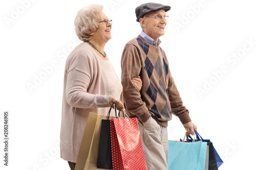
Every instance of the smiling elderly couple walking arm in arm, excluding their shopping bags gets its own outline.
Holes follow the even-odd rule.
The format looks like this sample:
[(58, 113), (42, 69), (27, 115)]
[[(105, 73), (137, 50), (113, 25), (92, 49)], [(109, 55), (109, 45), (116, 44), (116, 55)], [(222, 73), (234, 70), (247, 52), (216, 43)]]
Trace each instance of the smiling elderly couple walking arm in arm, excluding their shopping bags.
[(165, 52), (159, 46), (170, 6), (146, 3), (135, 10), (142, 27), (127, 42), (121, 57), (121, 82), (104, 52), (111, 39), (112, 20), (101, 5), (82, 8), (75, 31), (83, 41), (69, 55), (64, 77), (60, 155), (75, 168), (89, 112), (107, 114), (112, 103), (137, 117), (148, 170), (167, 170), (167, 123), (179, 117), (186, 134), (197, 127), (191, 122), (170, 74)]

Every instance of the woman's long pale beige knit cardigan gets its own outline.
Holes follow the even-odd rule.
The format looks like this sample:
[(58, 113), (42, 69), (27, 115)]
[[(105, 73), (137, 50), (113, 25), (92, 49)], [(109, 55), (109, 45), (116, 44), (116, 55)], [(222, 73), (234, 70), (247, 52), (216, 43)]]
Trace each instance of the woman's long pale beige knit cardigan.
[(89, 112), (106, 115), (110, 108), (109, 83), (100, 58), (88, 43), (69, 55), (64, 76), (60, 157), (76, 162)]

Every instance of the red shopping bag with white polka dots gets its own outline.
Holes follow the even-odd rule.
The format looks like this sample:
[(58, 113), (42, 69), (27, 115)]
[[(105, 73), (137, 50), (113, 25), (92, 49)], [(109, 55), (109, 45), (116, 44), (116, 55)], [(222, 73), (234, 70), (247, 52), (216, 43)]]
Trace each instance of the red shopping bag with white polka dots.
[(146, 170), (137, 118), (113, 118), (111, 147), (114, 170)]

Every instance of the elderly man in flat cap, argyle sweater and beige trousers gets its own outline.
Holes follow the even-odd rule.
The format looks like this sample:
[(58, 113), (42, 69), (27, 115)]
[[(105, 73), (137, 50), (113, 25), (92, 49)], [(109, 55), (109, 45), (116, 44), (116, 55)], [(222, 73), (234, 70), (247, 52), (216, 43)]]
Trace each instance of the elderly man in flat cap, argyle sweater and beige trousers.
[[(183, 106), (167, 57), (159, 46), (167, 24), (165, 12), (169, 10), (170, 6), (156, 3), (136, 8), (142, 32), (126, 43), (121, 59), (124, 107), (131, 117), (138, 117), (148, 170), (168, 169), (167, 125), (172, 113), (179, 117), (187, 135), (197, 129)], [(131, 81), (138, 76), (142, 80), (140, 91)]]

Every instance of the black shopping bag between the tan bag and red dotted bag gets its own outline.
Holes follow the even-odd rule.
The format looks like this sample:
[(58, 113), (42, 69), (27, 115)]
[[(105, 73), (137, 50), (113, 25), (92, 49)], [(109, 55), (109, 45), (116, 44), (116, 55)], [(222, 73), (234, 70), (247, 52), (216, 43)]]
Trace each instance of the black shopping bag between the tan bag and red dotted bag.
[[(107, 115), (108, 119), (101, 120), (97, 168), (113, 169), (112, 152), (111, 152), (111, 134), (110, 134), (110, 112), (111, 112), (112, 106), (115, 106), (115, 103), (111, 105), (111, 108)], [(115, 114), (117, 115), (116, 106), (115, 106)]]

